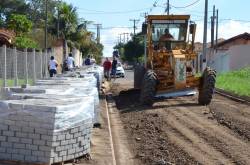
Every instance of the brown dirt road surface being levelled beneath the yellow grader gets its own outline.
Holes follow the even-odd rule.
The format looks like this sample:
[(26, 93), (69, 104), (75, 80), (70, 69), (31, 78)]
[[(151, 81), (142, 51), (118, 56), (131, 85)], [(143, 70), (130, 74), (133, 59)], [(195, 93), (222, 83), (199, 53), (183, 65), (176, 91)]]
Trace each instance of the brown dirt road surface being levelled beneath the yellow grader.
[(111, 85), (111, 114), (123, 130), (114, 143), (123, 139), (127, 152), (115, 148), (117, 164), (250, 164), (249, 105), (215, 95), (207, 107), (197, 105), (196, 96), (156, 100), (145, 107), (132, 78), (133, 72), (127, 72)]

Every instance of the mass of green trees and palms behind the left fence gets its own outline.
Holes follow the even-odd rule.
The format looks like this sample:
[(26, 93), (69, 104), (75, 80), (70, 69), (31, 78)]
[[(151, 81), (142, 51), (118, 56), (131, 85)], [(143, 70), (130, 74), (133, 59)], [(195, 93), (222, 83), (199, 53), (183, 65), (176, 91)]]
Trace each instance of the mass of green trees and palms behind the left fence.
[[(45, 2), (45, 0), (1, 1), (0, 26), (13, 29), (18, 34), (15, 40), (16, 46), (43, 47)], [(59, 37), (63, 38), (70, 48), (77, 48), (83, 56), (92, 55), (96, 61), (101, 61), (103, 45), (96, 43), (93, 33), (87, 30), (87, 25), (92, 22), (79, 18), (76, 7), (71, 4), (58, 0), (47, 0), (47, 2), (48, 44), (51, 45), (55, 40), (59, 22)]]

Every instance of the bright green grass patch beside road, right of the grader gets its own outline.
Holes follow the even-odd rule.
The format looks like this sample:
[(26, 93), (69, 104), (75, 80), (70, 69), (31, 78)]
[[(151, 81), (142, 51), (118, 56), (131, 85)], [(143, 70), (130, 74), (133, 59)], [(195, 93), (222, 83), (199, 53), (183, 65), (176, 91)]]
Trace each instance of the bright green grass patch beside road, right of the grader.
[(216, 87), (250, 97), (250, 67), (219, 74), (216, 78)]

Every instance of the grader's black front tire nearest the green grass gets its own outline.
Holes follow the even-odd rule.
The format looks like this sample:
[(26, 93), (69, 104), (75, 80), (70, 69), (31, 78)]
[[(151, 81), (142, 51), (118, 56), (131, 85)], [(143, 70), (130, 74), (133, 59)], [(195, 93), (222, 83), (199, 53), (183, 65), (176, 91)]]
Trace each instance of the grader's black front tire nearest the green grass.
[(207, 67), (201, 78), (198, 102), (200, 105), (210, 104), (215, 88), (216, 71)]

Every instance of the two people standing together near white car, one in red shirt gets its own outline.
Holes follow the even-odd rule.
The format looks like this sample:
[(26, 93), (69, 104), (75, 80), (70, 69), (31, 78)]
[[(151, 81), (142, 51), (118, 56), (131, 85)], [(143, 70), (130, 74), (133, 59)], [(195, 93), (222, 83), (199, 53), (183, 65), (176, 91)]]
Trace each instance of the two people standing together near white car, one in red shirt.
[(117, 59), (115, 56), (113, 56), (113, 61), (111, 62), (108, 57), (106, 57), (106, 60), (103, 63), (103, 69), (104, 69), (104, 77), (107, 80), (110, 80), (111, 76), (116, 78), (116, 68), (117, 68)]

